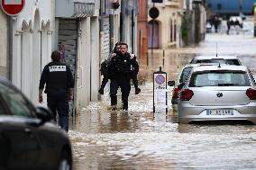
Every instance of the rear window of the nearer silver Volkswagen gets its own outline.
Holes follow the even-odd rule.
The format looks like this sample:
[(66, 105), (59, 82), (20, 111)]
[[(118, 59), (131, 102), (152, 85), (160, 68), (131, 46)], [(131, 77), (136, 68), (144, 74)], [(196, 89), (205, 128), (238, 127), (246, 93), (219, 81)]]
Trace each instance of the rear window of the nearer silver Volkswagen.
[(251, 83), (246, 72), (217, 70), (193, 73), (189, 86), (251, 86)]

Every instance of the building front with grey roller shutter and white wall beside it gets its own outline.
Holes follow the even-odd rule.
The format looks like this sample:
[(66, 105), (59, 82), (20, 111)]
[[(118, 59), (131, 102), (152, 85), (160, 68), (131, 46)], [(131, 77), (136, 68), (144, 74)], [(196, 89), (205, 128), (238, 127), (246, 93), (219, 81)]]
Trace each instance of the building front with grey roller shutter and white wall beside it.
[(69, 107), (72, 113), (97, 100), (99, 8), (99, 0), (56, 0), (54, 49), (59, 49), (62, 62), (69, 65), (75, 78), (74, 100)]

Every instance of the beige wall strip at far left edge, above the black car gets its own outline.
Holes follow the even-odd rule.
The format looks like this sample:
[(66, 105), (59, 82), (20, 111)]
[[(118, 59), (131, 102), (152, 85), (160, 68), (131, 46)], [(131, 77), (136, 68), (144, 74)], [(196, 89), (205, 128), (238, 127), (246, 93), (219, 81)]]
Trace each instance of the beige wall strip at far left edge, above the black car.
[(0, 10), (0, 76), (8, 78), (8, 32), (7, 32), (7, 16)]

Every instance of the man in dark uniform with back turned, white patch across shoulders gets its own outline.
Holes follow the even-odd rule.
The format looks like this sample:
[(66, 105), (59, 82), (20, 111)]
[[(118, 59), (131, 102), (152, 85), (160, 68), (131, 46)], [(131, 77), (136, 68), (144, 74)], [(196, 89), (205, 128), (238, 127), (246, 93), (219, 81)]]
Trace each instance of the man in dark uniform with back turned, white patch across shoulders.
[(74, 79), (70, 68), (60, 62), (60, 53), (55, 50), (51, 53), (52, 62), (47, 64), (41, 73), (39, 85), (39, 102), (42, 103), (42, 91), (45, 87), (47, 105), (53, 112), (56, 121), (56, 113), (59, 114), (60, 128), (69, 130), (69, 101), (72, 100)]

